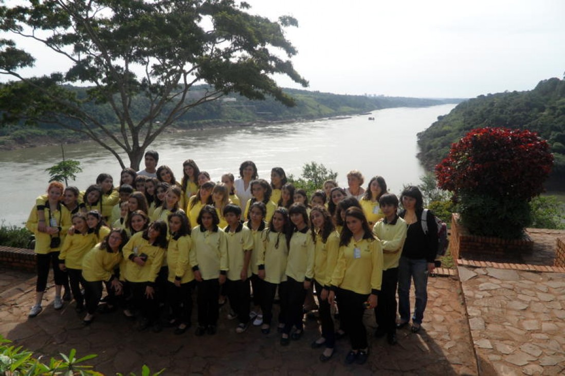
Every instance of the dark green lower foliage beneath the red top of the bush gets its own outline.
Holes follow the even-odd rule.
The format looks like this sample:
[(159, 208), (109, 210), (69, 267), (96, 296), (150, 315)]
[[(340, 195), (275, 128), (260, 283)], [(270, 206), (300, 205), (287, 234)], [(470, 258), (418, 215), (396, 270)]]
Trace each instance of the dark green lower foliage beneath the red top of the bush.
[(475, 193), (464, 193), (459, 199), (461, 221), (472, 234), (518, 239), (532, 224), (525, 200)]

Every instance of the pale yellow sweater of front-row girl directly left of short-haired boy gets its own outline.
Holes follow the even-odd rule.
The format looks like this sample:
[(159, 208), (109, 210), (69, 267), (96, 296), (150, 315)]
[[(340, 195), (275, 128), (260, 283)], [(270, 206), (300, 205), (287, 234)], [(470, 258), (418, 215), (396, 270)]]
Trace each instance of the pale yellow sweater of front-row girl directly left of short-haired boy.
[(200, 271), (202, 279), (218, 278), (221, 272), (227, 274), (228, 243), (224, 230), (208, 231), (196, 226), (190, 238), (190, 265), (193, 270)]

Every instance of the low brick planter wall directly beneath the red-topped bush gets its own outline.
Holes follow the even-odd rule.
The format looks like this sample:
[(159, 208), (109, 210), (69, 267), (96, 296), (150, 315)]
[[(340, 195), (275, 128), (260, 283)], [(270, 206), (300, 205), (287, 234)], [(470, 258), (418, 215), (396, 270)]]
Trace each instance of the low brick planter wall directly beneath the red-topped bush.
[(496, 260), (509, 257), (519, 259), (521, 254), (533, 251), (533, 241), (525, 233), (523, 238), (512, 240), (471, 235), (459, 222), (459, 214), (453, 213), (449, 247), (454, 259)]

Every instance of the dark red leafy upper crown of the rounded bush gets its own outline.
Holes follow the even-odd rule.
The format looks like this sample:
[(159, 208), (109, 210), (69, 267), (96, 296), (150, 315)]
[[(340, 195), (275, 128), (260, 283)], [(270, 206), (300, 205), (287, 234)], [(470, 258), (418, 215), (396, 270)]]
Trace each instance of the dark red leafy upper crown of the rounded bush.
[(478, 128), (467, 133), (436, 166), (441, 189), (529, 200), (543, 191), (553, 155), (537, 133)]

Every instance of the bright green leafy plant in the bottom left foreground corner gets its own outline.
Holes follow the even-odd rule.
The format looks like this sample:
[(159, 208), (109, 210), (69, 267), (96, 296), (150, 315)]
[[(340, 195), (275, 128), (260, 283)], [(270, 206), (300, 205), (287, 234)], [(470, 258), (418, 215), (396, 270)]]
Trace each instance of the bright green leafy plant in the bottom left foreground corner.
[[(50, 358), (49, 363), (41, 361), (40, 358), (34, 358), (33, 352), (22, 349), (21, 346), (15, 347), (10, 345), (11, 341), (0, 335), (0, 375), (16, 376), (40, 376), (40, 375), (92, 375), (103, 376), (102, 373), (95, 371), (93, 366), (84, 365), (87, 360), (97, 357), (98, 355), (90, 354), (81, 358), (76, 357), (76, 350), (71, 349), (68, 355), (59, 353), (60, 359)], [(159, 376), (164, 371), (151, 373), (146, 365), (141, 368), (142, 376)], [(122, 375), (118, 373), (118, 375)], [(136, 376), (129, 373), (129, 376)]]

